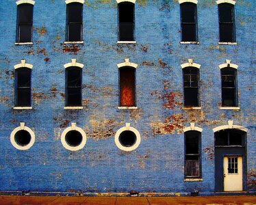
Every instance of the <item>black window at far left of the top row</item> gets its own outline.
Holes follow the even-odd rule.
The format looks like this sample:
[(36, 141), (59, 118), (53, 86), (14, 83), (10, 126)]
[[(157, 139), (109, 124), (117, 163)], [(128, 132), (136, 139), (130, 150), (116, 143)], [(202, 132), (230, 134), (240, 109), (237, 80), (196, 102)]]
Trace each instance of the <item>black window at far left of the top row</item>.
[(32, 42), (33, 5), (21, 3), (17, 8), (16, 42)]

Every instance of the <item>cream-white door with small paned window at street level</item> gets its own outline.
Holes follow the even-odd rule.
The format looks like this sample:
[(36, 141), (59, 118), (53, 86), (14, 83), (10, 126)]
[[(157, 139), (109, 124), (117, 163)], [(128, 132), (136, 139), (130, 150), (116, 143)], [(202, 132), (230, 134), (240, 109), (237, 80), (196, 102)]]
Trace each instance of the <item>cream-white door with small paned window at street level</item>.
[(243, 190), (242, 156), (225, 156), (223, 159), (224, 191)]

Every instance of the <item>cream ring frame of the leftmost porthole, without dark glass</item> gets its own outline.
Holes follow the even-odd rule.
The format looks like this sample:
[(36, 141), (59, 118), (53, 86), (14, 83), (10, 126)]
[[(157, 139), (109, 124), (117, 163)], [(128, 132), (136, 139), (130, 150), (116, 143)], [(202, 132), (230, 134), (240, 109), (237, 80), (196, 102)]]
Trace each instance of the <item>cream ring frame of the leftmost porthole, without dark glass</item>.
[[(20, 146), (15, 141), (15, 135), (16, 135), (16, 133), (18, 133), (18, 131), (27, 131), (29, 133), (31, 139), (30, 139), (30, 142), (26, 146)], [(12, 133), (10, 135), (10, 141), (12, 143), (12, 146), (14, 146), (14, 148), (16, 148), (17, 150), (29, 150), (29, 148), (31, 148), (31, 146), (33, 146), (36, 141), (36, 135), (35, 135), (34, 131), (31, 130), (31, 128), (25, 126), (25, 122), (21, 122), (20, 126), (14, 128), (14, 130), (12, 131)]]

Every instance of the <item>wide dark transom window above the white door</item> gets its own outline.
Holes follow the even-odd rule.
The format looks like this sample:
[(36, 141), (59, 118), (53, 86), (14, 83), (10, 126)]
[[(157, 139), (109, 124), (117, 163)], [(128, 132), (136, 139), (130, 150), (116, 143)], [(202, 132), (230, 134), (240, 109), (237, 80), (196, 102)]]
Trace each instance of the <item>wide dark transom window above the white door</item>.
[(218, 131), (215, 146), (244, 146), (244, 132), (235, 129)]

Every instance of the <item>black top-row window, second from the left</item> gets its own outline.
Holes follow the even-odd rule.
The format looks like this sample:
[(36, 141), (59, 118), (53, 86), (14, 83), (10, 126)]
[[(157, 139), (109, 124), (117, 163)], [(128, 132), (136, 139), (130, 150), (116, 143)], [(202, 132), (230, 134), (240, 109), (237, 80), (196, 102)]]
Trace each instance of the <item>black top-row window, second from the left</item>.
[(83, 4), (68, 3), (66, 5), (66, 40), (82, 41)]

